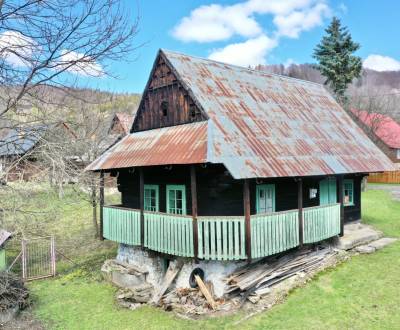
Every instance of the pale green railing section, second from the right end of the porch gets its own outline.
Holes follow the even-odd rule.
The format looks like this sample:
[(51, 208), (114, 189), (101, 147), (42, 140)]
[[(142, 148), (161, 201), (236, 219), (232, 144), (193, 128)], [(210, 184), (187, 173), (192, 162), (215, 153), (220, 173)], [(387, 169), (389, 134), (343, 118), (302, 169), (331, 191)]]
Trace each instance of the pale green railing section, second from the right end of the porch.
[(251, 216), (251, 257), (262, 258), (299, 245), (299, 211)]

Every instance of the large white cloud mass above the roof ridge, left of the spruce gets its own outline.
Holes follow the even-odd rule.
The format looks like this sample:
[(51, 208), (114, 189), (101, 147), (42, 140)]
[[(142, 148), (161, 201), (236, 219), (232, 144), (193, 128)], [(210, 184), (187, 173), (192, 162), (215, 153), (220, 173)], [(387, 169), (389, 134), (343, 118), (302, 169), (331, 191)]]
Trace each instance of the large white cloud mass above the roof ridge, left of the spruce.
[[(271, 15), (275, 30), (267, 33), (257, 21)], [(280, 38), (298, 38), (303, 31), (322, 25), (330, 16), (326, 0), (247, 0), (234, 5), (211, 4), (192, 10), (173, 28), (172, 35), (184, 42), (226, 41), (234, 36), (247, 41), (214, 50), (209, 58), (239, 65), (265, 64), (268, 51)], [(252, 47), (254, 47), (252, 49)], [(254, 53), (254, 54), (253, 54)], [(258, 62), (256, 62), (258, 61)]]

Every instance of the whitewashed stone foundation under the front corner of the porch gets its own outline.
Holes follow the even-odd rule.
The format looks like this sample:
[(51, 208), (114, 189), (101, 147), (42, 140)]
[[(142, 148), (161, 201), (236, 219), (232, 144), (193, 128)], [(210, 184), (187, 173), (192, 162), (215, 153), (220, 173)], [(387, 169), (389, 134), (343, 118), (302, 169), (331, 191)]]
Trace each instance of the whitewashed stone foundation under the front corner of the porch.
[[(193, 269), (201, 268), (204, 271), (204, 280), (211, 282), (216, 297), (224, 294), (225, 278), (238, 267), (246, 264), (244, 261), (204, 261), (195, 263), (193, 259), (181, 258), (183, 267), (178, 273), (171, 288), (190, 288), (189, 277)], [(140, 247), (120, 244), (117, 260), (140, 267), (148, 272), (146, 281), (154, 287), (161, 285), (167, 260), (154, 252), (144, 251)], [(170, 259), (173, 260), (172, 257)]]

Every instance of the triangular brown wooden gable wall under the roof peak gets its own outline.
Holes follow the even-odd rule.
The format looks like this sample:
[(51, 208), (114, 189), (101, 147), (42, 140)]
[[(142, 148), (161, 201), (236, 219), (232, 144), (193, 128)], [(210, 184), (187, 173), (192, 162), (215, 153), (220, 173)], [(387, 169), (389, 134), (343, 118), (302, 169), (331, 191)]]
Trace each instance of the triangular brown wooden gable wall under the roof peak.
[[(163, 102), (168, 104), (166, 116), (161, 106)], [(160, 55), (143, 94), (133, 131), (175, 126), (206, 119), (207, 117), (178, 81), (164, 57)]]

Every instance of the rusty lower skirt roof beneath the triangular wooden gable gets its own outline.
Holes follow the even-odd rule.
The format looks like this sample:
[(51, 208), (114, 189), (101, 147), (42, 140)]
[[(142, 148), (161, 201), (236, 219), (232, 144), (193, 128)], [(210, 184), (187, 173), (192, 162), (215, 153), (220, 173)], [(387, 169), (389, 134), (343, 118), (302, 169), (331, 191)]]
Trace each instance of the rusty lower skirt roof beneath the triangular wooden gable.
[(86, 170), (204, 163), (207, 122), (164, 127), (125, 136)]

